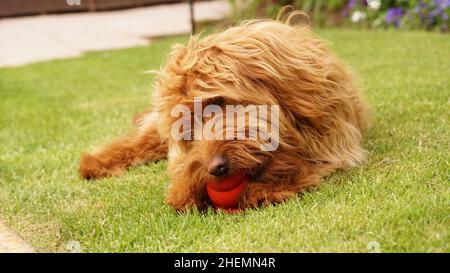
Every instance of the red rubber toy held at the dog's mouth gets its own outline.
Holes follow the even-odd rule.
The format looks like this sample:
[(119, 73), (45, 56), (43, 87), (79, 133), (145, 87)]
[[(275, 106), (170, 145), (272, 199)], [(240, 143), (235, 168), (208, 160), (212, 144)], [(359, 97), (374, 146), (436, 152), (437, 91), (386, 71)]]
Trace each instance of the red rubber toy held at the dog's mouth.
[(235, 174), (221, 181), (210, 181), (206, 184), (208, 196), (216, 209), (226, 212), (239, 212), (238, 201), (241, 192), (247, 184), (246, 174)]

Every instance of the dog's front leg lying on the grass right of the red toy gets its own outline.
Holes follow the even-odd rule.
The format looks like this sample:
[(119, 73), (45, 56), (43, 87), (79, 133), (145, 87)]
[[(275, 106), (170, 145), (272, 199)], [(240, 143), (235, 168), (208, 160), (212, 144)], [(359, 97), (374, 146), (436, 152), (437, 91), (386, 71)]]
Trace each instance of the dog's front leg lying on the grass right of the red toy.
[(261, 205), (284, 202), (303, 190), (316, 186), (320, 183), (322, 177), (329, 175), (335, 168), (330, 165), (323, 165), (307, 169), (307, 173), (281, 183), (248, 183), (241, 195), (240, 207), (257, 208)]

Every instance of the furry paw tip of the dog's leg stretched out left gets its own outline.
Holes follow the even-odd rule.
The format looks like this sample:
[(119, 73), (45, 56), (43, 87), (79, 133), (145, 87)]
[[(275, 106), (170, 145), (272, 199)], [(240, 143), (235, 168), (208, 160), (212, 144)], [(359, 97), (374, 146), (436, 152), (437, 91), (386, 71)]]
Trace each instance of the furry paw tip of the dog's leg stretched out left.
[(100, 179), (118, 176), (121, 171), (105, 167), (98, 159), (90, 154), (84, 154), (80, 162), (80, 176), (84, 179)]

